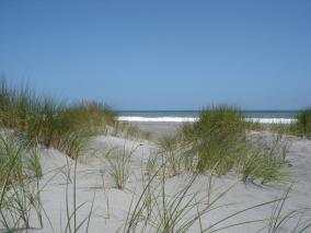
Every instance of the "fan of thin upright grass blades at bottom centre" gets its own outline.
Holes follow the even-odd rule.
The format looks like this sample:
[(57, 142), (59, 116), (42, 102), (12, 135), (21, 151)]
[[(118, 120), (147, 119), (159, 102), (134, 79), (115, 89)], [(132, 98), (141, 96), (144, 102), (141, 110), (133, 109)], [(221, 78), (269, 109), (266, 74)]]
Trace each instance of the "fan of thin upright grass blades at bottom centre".
[[(161, 177), (160, 180), (157, 179), (158, 175)], [(188, 194), (194, 179), (174, 195), (168, 194), (165, 182), (164, 166), (149, 176), (148, 182), (143, 183), (143, 190), (138, 195), (138, 200), (131, 201), (123, 232), (185, 232), (183, 225), (181, 229), (176, 225), (184, 223), (186, 228), (187, 224), (196, 222), (183, 222), (185, 214), (196, 207), (191, 203), (194, 198)]]

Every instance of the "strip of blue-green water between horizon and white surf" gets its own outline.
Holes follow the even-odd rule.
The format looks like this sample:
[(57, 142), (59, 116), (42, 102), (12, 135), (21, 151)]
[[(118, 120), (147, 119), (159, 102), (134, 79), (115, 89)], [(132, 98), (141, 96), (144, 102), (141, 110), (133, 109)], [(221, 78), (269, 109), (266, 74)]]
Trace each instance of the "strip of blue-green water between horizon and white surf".
[[(249, 118), (295, 118), (298, 110), (244, 110)], [(126, 117), (197, 117), (198, 110), (119, 110)]]

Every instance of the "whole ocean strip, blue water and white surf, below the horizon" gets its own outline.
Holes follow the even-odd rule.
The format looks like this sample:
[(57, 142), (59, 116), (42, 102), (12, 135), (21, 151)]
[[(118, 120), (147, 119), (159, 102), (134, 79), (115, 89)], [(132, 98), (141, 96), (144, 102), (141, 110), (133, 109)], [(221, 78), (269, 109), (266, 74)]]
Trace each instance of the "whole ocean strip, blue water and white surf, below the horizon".
[[(263, 124), (289, 124), (298, 110), (244, 110), (246, 120)], [(125, 121), (185, 123), (196, 121), (199, 110), (119, 110), (118, 119)]]

